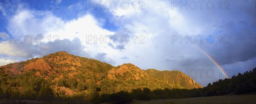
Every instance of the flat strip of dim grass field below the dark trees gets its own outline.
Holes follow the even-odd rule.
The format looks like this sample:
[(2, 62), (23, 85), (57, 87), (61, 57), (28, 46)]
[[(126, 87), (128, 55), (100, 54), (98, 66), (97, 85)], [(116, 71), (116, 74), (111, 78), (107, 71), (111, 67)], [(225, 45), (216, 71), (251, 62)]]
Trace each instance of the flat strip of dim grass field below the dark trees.
[(224, 95), (198, 98), (134, 100), (133, 104), (256, 104), (256, 95)]

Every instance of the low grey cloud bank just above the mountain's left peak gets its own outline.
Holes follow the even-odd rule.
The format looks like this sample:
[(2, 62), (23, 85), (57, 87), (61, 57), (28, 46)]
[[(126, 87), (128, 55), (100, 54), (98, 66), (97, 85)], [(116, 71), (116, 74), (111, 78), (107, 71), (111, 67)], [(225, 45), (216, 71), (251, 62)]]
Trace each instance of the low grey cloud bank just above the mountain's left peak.
[[(56, 43), (53, 43), (52, 41), (51, 43), (44, 42), (41, 44), (35, 42), (29, 43), (29, 41), (24, 44), (9, 44), (8, 41), (4, 41), (2, 45), (6, 47), (11, 46), (12, 49), (3, 50), (1, 48), (1, 58), (6, 56), (9, 59), (19, 59), (20, 61), (34, 57), (43, 57), (44, 55), (58, 51), (66, 51), (70, 54), (91, 58), (87, 52), (83, 50), (85, 46), (81, 44), (79, 38), (74, 38), (73, 40), (57, 40)], [(9, 52), (19, 52), (20, 54), (10, 54)]]

